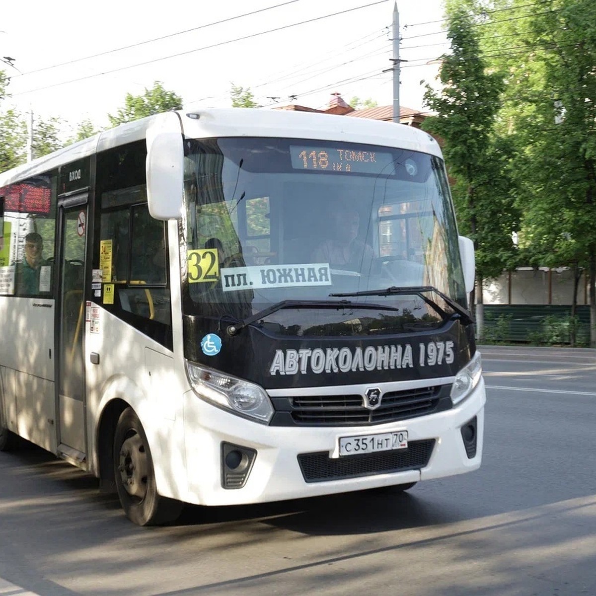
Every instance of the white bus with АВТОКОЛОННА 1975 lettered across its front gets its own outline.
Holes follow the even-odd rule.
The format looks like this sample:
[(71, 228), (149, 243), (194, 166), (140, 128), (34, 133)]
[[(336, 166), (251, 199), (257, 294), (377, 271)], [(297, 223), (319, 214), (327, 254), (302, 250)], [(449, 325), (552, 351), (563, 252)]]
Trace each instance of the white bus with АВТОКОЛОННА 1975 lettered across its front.
[(0, 175), (0, 449), (137, 524), (475, 470), (485, 389), (439, 145), (170, 112)]

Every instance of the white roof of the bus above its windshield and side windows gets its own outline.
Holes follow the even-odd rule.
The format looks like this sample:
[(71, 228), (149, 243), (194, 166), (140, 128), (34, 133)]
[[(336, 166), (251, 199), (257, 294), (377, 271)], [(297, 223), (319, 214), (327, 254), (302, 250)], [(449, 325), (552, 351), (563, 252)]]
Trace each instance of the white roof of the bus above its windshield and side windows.
[[(356, 142), (398, 147), (441, 156), (436, 140), (412, 126), (396, 126), (365, 118), (332, 114), (262, 110), (257, 108), (212, 108), (179, 110), (187, 138), (219, 136), (262, 136)], [(155, 116), (116, 126), (76, 142), (30, 163), (0, 173), (0, 188), (12, 182), (52, 170), (63, 164), (88, 157), (99, 151), (145, 138)]]

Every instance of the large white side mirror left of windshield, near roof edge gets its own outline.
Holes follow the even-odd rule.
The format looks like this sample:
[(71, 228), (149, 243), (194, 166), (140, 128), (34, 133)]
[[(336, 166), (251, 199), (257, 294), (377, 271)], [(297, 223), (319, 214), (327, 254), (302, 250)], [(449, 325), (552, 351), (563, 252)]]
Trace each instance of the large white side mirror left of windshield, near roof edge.
[(151, 217), (182, 216), (184, 144), (178, 114), (158, 114), (147, 129), (147, 203)]

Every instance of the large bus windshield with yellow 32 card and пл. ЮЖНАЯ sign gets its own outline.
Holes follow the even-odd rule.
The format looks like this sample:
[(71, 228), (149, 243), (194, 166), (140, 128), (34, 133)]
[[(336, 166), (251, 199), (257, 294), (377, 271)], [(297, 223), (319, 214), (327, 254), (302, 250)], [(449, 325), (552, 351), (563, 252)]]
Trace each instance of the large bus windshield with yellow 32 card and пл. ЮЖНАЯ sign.
[[(395, 333), (396, 310), (402, 324), (405, 316), (437, 327), (454, 309), (444, 301), (433, 307), (415, 291), (375, 290), (431, 286), (465, 306), (439, 157), (278, 138), (189, 140), (185, 153), (185, 314), (242, 321), (293, 300), (296, 308), (274, 309), (267, 321), (308, 335), (317, 325), (361, 315), (361, 321), (392, 318)], [(309, 308), (310, 301), (346, 303), (334, 294), (352, 296), (350, 312)], [(366, 303), (378, 306), (377, 315)]]

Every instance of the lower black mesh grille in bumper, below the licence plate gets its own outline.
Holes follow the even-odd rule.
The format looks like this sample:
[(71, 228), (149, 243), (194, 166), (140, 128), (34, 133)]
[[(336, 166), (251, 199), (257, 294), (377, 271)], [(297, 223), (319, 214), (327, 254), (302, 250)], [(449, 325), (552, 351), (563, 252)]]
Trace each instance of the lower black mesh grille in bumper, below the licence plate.
[(433, 448), (434, 439), (426, 439), (409, 442), (407, 449), (350, 455), (336, 459), (331, 459), (327, 451), (304, 453), (298, 456), (298, 463), (306, 482), (324, 482), (418, 470), (429, 463)]

